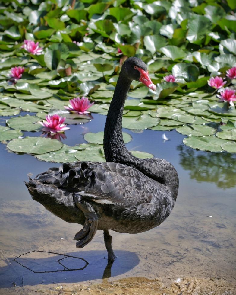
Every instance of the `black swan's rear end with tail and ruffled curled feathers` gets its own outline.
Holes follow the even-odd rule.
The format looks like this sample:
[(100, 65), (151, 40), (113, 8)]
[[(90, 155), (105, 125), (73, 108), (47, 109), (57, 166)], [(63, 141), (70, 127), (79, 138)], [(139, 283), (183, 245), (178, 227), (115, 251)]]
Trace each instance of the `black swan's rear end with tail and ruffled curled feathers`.
[(84, 223), (85, 218), (75, 205), (74, 192), (94, 183), (95, 173), (85, 162), (75, 168), (73, 164), (50, 168), (25, 182), (33, 200), (63, 220), (80, 224)]

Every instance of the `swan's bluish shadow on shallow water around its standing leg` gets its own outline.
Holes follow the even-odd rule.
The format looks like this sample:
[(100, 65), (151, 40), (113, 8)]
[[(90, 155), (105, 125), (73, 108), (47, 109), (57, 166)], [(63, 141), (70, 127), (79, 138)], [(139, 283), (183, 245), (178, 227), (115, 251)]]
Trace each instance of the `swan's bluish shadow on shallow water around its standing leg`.
[[(89, 262), (86, 264), (73, 257), (65, 258), (62, 264), (70, 269), (63, 271), (64, 266), (58, 260), (65, 257), (50, 253), (30, 253), (17, 258), (19, 263), (12, 260), (11, 264), (0, 269), (2, 288), (16, 286), (52, 284), (52, 283), (78, 283), (102, 278), (114, 277), (126, 273), (139, 264), (137, 254), (129, 251), (116, 251), (118, 259), (108, 261), (106, 251), (78, 251), (65, 253), (69, 256), (83, 257)], [(43, 255), (43, 256), (42, 256)], [(41, 258), (43, 257), (43, 258)], [(24, 267), (22, 266), (24, 265)], [(81, 268), (81, 269), (80, 269)], [(55, 271), (61, 270), (55, 273)], [(46, 272), (45, 272), (46, 271)]]

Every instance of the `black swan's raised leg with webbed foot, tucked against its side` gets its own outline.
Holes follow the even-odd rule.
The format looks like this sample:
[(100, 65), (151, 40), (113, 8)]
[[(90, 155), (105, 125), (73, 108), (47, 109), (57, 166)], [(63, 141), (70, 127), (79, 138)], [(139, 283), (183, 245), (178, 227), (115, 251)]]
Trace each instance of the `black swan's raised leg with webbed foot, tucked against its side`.
[(77, 248), (83, 248), (93, 239), (97, 227), (98, 227), (98, 217), (93, 207), (85, 201), (81, 200), (81, 197), (74, 194), (73, 196), (76, 206), (83, 212), (85, 216), (85, 223), (83, 229), (81, 229), (74, 236), (74, 240), (79, 242), (76, 243)]

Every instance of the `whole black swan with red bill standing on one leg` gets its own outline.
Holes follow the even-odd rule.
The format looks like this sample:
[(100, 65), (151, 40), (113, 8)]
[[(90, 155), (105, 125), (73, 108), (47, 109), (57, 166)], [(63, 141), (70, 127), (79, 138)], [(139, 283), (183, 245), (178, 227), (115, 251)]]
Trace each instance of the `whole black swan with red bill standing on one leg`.
[(171, 213), (178, 194), (178, 174), (170, 163), (139, 159), (124, 145), (122, 113), (132, 80), (156, 90), (145, 63), (128, 58), (107, 114), (106, 163), (65, 163), (26, 183), (34, 200), (63, 220), (83, 225), (74, 237), (78, 248), (87, 245), (97, 229), (103, 230), (109, 261), (115, 259), (109, 229), (139, 233), (158, 226)]

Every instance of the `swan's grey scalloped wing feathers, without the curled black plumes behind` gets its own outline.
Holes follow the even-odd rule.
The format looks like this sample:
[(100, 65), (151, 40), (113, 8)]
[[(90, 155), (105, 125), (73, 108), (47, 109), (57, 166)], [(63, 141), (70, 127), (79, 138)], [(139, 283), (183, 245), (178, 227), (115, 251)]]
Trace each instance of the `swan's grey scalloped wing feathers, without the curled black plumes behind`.
[(96, 163), (93, 171), (96, 173), (95, 184), (79, 192), (86, 199), (128, 206), (152, 199), (153, 181), (135, 168), (119, 163)]

